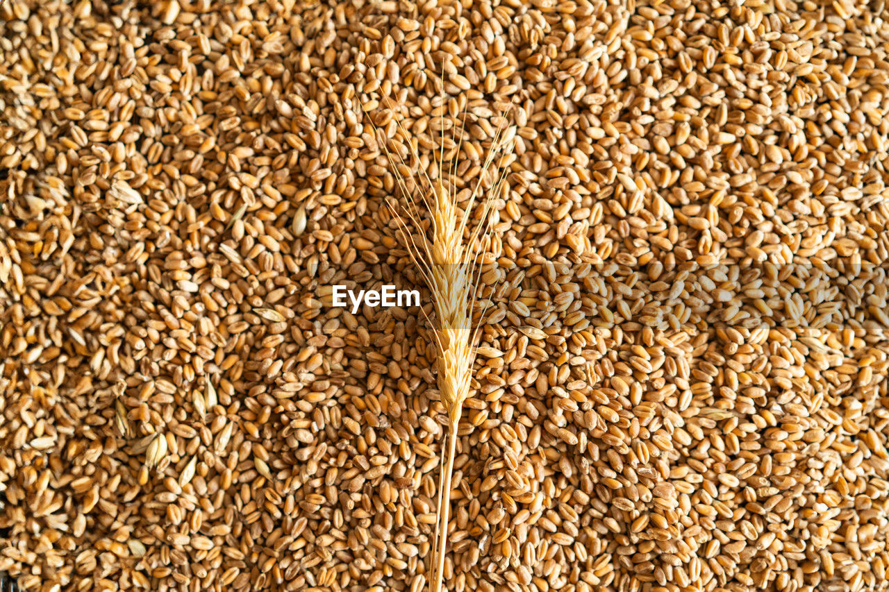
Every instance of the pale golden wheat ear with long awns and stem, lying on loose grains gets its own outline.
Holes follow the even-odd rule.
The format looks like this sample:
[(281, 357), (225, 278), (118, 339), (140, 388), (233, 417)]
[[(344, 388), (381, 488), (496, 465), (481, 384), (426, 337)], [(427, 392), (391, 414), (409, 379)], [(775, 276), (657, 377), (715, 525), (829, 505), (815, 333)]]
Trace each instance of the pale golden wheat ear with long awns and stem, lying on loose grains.
[[(442, 116), (444, 119), (444, 115)], [(372, 118), (368, 114), (368, 118)], [(463, 124), (465, 124), (465, 117)], [(398, 124), (405, 144), (411, 148), (413, 160), (420, 164), (420, 156), (410, 141), (401, 124)], [(445, 129), (445, 125), (441, 126)], [(375, 128), (375, 125), (374, 125)], [(404, 171), (411, 168), (398, 156), (396, 163), (388, 150), (386, 140), (381, 139), (383, 149), (388, 156), (389, 164), (396, 176), (401, 192), (407, 199), (404, 215), (397, 211), (394, 204), (389, 204), (396, 220), (401, 225), (408, 252), (420, 275), (426, 282), (433, 300), (436, 313), (434, 334), (437, 346), (438, 389), (442, 405), (445, 407), (448, 424), (448, 437), (442, 451), (442, 468), (438, 481), (438, 508), (436, 515), (436, 536), (433, 542), (433, 564), (429, 570), (429, 589), (439, 592), (442, 588), (445, 572), (445, 552), (447, 547), (448, 521), (451, 508), (451, 476), (453, 461), (457, 449), (457, 429), (463, 411), (463, 402), (469, 396), (472, 379), (472, 366), (476, 358), (475, 343), (480, 324), (472, 321), (473, 308), (477, 298), (478, 286), (481, 282), (481, 255), (485, 244), (490, 238), (492, 229), (491, 210), (493, 201), (499, 195), (504, 175), (495, 175), (491, 188), (484, 191), (483, 180), (493, 171), (495, 161), (502, 154), (505, 145), (511, 142), (502, 141), (501, 126), (493, 138), (485, 164), (479, 175), (476, 187), (470, 192), (467, 204), (458, 203), (458, 192), (453, 183), (445, 178), (445, 141), (442, 138), (441, 159), (438, 163), (438, 179), (433, 181), (427, 172), (418, 175), (412, 183), (405, 178)], [(463, 126), (460, 128), (461, 136)], [(444, 132), (443, 132), (444, 133)], [(456, 131), (454, 132), (456, 134)], [(454, 160), (460, 156), (461, 146), (457, 146)], [(400, 166), (399, 166), (400, 164)], [(454, 171), (456, 163), (452, 163)], [(452, 173), (453, 175), (453, 173)], [(408, 185), (419, 188), (418, 193), (411, 191)], [(479, 197), (480, 192), (484, 196)], [(430, 224), (424, 225), (421, 207), (428, 211)], [(468, 227), (473, 212), (477, 213), (474, 228)], [(419, 235), (414, 238), (414, 233)], [(482, 316), (484, 316), (484, 311)]]

